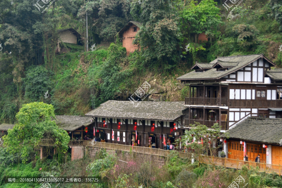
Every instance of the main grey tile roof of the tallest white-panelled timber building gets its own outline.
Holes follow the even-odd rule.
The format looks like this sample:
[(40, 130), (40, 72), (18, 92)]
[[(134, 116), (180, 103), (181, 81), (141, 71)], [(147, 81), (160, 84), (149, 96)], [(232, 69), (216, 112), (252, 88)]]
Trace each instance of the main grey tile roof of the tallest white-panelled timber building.
[[(260, 57), (265, 58), (263, 54), (218, 57), (217, 59), (210, 62), (210, 64), (215, 65), (218, 62), (218, 60), (220, 60), (223, 62), (238, 62), (238, 65), (230, 68), (229, 70), (218, 70), (217, 71), (216, 68), (206, 70), (204, 72), (201, 72), (201, 71), (196, 72), (194, 70), (192, 72), (189, 72), (185, 75), (178, 77), (177, 80), (219, 79), (232, 72), (235, 72), (236, 70), (243, 68), (244, 66), (247, 66), (248, 64), (252, 63), (254, 60), (257, 60)], [(268, 60), (267, 58), (265, 59)], [(274, 65), (274, 63), (272, 64)]]

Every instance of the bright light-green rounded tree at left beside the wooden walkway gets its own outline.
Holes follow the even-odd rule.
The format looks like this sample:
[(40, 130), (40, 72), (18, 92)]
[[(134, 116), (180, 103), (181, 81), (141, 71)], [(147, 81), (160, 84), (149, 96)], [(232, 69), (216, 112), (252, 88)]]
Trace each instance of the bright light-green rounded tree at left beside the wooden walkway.
[(55, 121), (54, 107), (43, 102), (24, 104), (16, 115), (18, 123), (8, 130), (3, 137), (4, 146), (12, 154), (20, 154), (20, 159), (26, 163), (39, 145), (40, 139), (52, 139), (58, 153), (58, 160), (64, 160), (70, 137), (59, 128)]

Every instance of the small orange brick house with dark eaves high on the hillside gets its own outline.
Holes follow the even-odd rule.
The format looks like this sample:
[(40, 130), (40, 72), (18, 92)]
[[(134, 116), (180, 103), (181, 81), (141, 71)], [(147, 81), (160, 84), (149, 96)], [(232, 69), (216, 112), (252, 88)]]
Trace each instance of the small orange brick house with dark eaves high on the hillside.
[(127, 55), (138, 49), (138, 46), (133, 44), (135, 35), (141, 27), (140, 22), (130, 21), (126, 26), (118, 32), (118, 37), (122, 40), (123, 47), (126, 48)]

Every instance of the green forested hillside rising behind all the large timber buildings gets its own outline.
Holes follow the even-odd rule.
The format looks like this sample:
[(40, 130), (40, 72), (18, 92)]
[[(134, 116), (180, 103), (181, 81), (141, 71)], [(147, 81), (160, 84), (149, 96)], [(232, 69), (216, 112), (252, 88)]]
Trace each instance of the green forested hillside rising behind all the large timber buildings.
[[(0, 1), (0, 123), (15, 123), (30, 102), (83, 115), (128, 100), (144, 81), (154, 88), (149, 100), (181, 101), (188, 89), (176, 77), (218, 56), (263, 53), (282, 66), (280, 0), (243, 0), (232, 11), (222, 0), (57, 0), (44, 11), (36, 3)], [(95, 51), (86, 52), (86, 14)], [(131, 20), (142, 23), (134, 40), (140, 51), (127, 56), (117, 33)], [(80, 41), (56, 52), (59, 31), (69, 28)], [(198, 41), (203, 33), (207, 42)]]

